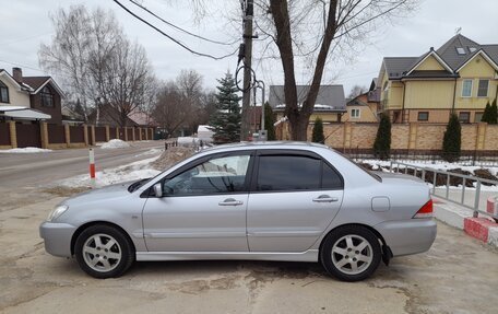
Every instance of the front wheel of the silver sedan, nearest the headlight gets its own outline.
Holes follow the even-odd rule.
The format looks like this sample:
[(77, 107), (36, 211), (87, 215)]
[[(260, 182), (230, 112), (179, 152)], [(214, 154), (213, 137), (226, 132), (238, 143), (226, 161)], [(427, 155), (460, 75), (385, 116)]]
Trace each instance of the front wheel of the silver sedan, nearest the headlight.
[(131, 241), (117, 228), (96, 224), (83, 230), (74, 244), (80, 268), (95, 278), (121, 276), (134, 263)]

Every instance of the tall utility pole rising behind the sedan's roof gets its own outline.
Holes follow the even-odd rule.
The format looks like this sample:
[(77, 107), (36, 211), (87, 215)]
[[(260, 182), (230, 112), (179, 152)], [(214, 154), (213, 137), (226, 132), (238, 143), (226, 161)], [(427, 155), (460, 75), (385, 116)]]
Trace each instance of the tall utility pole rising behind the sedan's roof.
[(253, 0), (246, 0), (246, 12), (244, 14), (244, 91), (242, 91), (242, 121), (240, 126), (240, 140), (246, 141), (250, 132), (249, 107), (251, 105), (251, 65), (252, 65), (252, 20)]

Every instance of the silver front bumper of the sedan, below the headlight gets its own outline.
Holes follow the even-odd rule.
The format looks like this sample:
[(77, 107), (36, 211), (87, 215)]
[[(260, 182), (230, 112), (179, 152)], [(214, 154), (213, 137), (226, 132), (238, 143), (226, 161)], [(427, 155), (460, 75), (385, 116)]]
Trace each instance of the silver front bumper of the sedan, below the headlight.
[(71, 257), (71, 239), (74, 231), (76, 228), (68, 223), (42, 223), (39, 236), (45, 241), (45, 251), (55, 256)]

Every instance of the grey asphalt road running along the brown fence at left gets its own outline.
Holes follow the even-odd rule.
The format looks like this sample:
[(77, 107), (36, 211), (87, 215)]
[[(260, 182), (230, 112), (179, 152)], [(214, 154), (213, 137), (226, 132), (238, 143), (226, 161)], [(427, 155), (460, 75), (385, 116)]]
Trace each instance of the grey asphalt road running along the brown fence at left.
[[(95, 148), (97, 171), (144, 159), (164, 141), (132, 142), (130, 148)], [(88, 149), (54, 150), (48, 153), (0, 153), (0, 190), (50, 185), (61, 178), (88, 173)]]

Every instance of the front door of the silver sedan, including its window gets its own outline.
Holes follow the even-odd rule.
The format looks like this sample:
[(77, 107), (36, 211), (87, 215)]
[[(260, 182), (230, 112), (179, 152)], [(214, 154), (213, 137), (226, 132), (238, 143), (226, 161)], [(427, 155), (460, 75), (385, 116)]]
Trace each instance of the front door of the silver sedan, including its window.
[(143, 209), (150, 252), (247, 252), (252, 152), (203, 158), (167, 176)]

